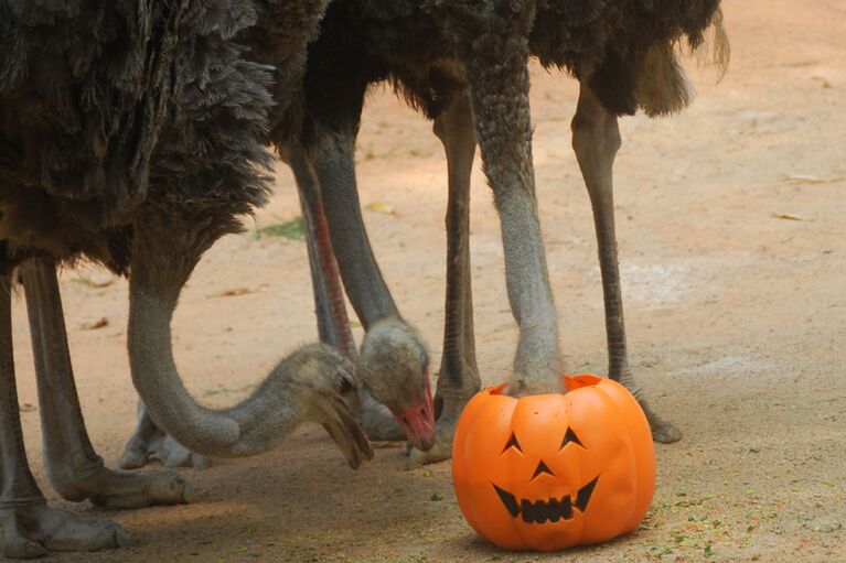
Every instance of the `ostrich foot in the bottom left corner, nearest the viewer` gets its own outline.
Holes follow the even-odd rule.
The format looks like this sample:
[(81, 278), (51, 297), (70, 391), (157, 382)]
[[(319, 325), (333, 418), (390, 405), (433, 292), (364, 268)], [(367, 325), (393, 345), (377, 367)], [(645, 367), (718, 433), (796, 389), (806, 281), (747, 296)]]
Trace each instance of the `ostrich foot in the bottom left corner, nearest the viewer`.
[(46, 505), (0, 510), (3, 553), (9, 559), (43, 557), (51, 551), (99, 551), (135, 545), (120, 526), (109, 520), (82, 520)]

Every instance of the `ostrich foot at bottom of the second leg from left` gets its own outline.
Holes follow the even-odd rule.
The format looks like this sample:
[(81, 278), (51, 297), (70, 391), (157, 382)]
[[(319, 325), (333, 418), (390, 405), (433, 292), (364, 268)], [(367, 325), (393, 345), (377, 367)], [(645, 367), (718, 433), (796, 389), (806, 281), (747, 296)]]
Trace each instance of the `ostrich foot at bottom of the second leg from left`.
[(200, 497), (200, 491), (171, 472), (136, 474), (115, 472), (99, 465), (85, 477), (67, 479), (54, 473), (52, 480), (67, 500), (89, 499), (95, 506), (113, 510), (185, 505)]

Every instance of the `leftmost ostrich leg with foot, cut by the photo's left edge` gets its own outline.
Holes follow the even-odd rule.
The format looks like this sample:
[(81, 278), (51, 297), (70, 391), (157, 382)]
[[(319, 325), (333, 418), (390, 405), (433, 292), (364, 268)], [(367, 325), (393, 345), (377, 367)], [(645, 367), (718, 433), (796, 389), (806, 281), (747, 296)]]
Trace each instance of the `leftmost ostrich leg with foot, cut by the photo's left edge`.
[(9, 559), (35, 559), (51, 551), (98, 551), (132, 545), (132, 537), (114, 522), (82, 520), (47, 507), (30, 473), (14, 380), (11, 275), (0, 264), (0, 523), (3, 527), (3, 553)]

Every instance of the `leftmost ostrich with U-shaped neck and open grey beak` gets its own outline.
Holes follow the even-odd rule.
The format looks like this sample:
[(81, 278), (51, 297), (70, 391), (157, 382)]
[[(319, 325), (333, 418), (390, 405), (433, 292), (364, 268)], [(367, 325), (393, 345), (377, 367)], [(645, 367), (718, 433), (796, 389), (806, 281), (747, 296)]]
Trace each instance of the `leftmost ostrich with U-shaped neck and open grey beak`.
[[(87, 258), (129, 274), (133, 381), (179, 442), (249, 455), (313, 421), (352, 466), (373, 455), (345, 402), (355, 392), (353, 366), (324, 345), (285, 358), (224, 412), (193, 402), (173, 366), (170, 320), (182, 285), (205, 249), (237, 230), (237, 217), (266, 194), (269, 158), (258, 138), (269, 73), (233, 40), (255, 18), (242, 0), (0, 0), (0, 522), (9, 557), (132, 542), (110, 521), (49, 507), (29, 469), (11, 339), (15, 277), (56, 490), (107, 508), (191, 496), (174, 474), (114, 472), (92, 447), (58, 294), (63, 262)], [(292, 48), (302, 52), (307, 39)]]

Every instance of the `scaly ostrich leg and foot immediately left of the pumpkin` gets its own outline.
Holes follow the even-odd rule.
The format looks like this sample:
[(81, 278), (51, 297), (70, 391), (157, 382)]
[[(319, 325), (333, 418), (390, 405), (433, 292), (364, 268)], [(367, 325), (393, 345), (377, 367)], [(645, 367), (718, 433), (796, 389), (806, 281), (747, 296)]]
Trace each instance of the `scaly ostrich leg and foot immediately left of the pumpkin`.
[(410, 467), (452, 457), (458, 419), (481, 387), (475, 364), (470, 270), (470, 175), (475, 153), (470, 100), (464, 96), (453, 100), (435, 120), (433, 130), (443, 143), (449, 170), (443, 355), (435, 394), (438, 423), (435, 446), (428, 452), (411, 450), (408, 458)]

